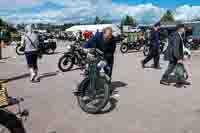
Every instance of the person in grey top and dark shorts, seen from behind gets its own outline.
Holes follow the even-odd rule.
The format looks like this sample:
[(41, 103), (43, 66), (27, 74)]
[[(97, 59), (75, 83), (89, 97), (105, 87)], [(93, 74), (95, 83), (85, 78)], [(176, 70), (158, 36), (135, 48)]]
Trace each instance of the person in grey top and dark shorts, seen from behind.
[(25, 28), (25, 34), (22, 37), (22, 45), (25, 47), (25, 56), (27, 65), (30, 71), (30, 81), (39, 82), (38, 75), (38, 36), (33, 32), (32, 25), (28, 25)]

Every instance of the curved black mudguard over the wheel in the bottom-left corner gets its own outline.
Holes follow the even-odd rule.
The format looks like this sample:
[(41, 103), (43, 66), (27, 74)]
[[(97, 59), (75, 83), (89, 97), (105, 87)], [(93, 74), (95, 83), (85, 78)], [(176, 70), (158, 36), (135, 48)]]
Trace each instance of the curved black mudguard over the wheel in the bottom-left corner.
[[(16, 128), (22, 129), (23, 130), (22, 133), (25, 133), (25, 129), (24, 129), (24, 126), (22, 124), (22, 121), (12, 112), (5, 110), (5, 109), (0, 109), (0, 118), (1, 118), (0, 119), (1, 124), (6, 125), (7, 123), (9, 123), (9, 121), (12, 120), (11, 124), (14, 124), (14, 126)], [(11, 126), (11, 125), (8, 125), (8, 126)], [(7, 128), (12, 128), (12, 127), (7, 127)]]

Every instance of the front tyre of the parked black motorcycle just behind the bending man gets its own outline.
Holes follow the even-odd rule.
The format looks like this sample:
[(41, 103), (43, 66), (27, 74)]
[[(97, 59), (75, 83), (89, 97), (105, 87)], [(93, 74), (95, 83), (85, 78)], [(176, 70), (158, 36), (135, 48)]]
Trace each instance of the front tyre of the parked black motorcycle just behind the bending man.
[[(66, 62), (67, 61), (67, 62)], [(70, 64), (69, 64), (70, 63)], [(66, 66), (67, 64), (69, 64), (69, 66)], [(64, 65), (64, 66), (63, 66)], [(62, 71), (62, 72), (67, 72), (70, 71), (72, 69), (72, 67), (74, 66), (74, 59), (72, 58), (71, 55), (63, 55), (58, 62), (58, 68)]]

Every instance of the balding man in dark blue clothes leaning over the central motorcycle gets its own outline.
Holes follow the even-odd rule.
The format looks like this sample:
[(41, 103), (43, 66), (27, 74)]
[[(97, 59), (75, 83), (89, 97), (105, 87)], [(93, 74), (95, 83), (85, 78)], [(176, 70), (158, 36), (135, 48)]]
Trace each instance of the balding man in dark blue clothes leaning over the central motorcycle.
[(107, 74), (110, 76), (110, 78), (112, 78), (114, 53), (116, 49), (116, 39), (112, 35), (112, 28), (107, 27), (103, 30), (103, 32), (97, 32), (83, 47), (97, 48), (104, 53), (105, 60), (111, 69)]

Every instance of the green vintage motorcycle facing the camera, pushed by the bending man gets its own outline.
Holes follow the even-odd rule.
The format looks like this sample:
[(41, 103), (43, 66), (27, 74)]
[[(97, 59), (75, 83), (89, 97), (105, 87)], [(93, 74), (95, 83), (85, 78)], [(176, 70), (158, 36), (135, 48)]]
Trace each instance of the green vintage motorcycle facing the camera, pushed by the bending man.
[(109, 66), (104, 60), (103, 53), (95, 49), (94, 56), (87, 58), (88, 68), (85, 78), (74, 93), (80, 108), (90, 114), (99, 113), (108, 103), (110, 98), (111, 84)]

